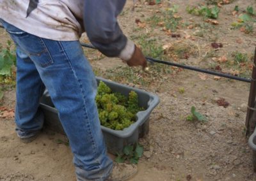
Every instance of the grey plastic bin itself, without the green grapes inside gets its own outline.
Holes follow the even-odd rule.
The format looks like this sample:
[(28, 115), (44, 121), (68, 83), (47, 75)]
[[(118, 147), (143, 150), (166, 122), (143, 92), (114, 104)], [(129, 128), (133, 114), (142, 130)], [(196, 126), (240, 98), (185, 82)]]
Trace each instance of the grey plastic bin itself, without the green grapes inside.
[[(108, 147), (108, 152), (115, 154), (122, 151), (125, 145), (136, 143), (138, 138), (141, 138), (148, 133), (150, 113), (159, 103), (159, 98), (150, 92), (141, 91), (140, 89), (128, 87), (120, 83), (111, 82), (104, 78), (97, 77), (98, 83), (100, 80), (106, 83), (113, 92), (120, 92), (125, 96), (128, 96), (130, 91), (135, 91), (138, 94), (139, 106), (145, 108), (144, 111), (137, 113), (136, 122), (122, 131), (116, 131), (109, 129), (108, 127), (101, 126), (102, 133), (104, 134), (104, 139)], [(46, 126), (53, 131), (65, 134), (58, 117), (58, 110), (54, 108), (47, 91), (44, 92), (40, 100), (40, 107), (45, 115)]]

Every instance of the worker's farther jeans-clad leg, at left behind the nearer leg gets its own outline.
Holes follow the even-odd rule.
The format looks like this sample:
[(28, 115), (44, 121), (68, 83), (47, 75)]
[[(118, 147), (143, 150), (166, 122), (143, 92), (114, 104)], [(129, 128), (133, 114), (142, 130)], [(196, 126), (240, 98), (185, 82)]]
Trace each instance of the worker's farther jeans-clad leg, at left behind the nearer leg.
[[(3, 22), (6, 29), (11, 27)], [(20, 33), (16, 31), (16, 33)], [(38, 110), (44, 84), (35, 64), (17, 45), (17, 78), (15, 123), (17, 135), (25, 143), (32, 141), (44, 124), (44, 115)], [(32, 138), (33, 137), (33, 138)]]

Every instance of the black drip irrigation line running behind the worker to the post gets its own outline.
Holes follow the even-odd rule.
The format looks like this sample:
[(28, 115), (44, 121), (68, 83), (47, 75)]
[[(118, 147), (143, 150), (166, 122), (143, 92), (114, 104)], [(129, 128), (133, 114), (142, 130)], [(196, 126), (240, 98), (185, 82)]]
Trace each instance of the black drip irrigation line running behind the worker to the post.
[[(0, 24), (0, 27), (3, 27), (3, 25)], [(89, 44), (86, 44), (86, 43), (81, 43), (81, 46), (87, 47), (87, 48), (92, 48), (92, 49), (97, 49), (97, 48), (93, 47), (93, 45), (89, 45)], [(207, 73), (207, 74), (216, 75), (216, 76), (222, 76), (222, 77), (230, 78), (230, 79), (234, 79), (234, 80), (239, 80), (241, 82), (248, 82), (248, 83), (252, 82), (251, 78), (243, 78), (243, 77), (228, 75), (228, 74), (220, 73), (220, 72), (216, 72), (216, 71), (210, 71), (210, 70), (207, 70), (207, 69), (196, 68), (196, 67), (193, 67), (193, 66), (186, 66), (186, 65), (182, 65), (182, 64), (176, 64), (176, 63), (173, 63), (173, 62), (161, 61), (161, 60), (153, 59), (151, 57), (146, 57), (146, 59), (150, 63), (157, 62), (157, 63), (160, 63), (160, 64), (175, 66), (175, 67), (178, 67), (178, 68), (190, 69), (190, 70), (193, 70), (193, 71), (198, 71), (198, 72)]]

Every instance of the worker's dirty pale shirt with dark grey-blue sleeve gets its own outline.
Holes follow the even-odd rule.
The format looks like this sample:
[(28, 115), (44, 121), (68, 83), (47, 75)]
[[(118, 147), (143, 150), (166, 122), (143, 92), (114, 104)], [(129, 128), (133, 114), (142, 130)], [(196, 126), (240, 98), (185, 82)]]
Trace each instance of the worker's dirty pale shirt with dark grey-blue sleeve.
[(125, 1), (0, 0), (0, 18), (22, 31), (56, 41), (79, 40), (85, 29), (104, 55), (128, 60), (134, 43), (122, 33), (116, 19)]

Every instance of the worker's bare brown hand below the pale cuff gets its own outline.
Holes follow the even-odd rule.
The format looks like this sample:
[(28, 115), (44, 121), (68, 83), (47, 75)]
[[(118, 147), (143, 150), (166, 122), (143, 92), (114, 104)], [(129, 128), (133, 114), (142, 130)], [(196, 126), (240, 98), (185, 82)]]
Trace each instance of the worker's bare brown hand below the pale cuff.
[(140, 48), (135, 45), (134, 53), (127, 61), (128, 66), (142, 66), (143, 69), (147, 68), (147, 61)]

